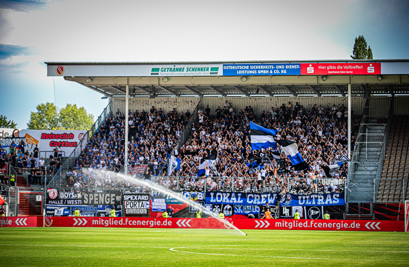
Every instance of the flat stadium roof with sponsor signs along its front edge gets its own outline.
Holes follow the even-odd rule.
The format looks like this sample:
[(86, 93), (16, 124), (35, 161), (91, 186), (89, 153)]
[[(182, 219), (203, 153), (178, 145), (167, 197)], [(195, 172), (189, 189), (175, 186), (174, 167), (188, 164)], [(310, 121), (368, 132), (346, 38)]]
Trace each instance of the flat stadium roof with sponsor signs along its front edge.
[[(46, 62), (109, 97), (345, 96), (409, 94), (409, 60)], [(368, 91), (367, 91), (368, 92)]]

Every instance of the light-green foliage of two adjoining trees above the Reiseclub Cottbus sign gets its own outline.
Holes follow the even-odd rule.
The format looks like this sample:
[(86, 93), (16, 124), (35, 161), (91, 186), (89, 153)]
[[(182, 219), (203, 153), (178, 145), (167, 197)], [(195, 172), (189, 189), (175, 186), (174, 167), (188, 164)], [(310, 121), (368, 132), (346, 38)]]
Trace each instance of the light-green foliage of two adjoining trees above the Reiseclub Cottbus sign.
[(94, 121), (84, 107), (67, 104), (59, 110), (53, 103), (39, 104), (37, 112), (31, 112), (28, 129), (33, 130), (88, 130)]

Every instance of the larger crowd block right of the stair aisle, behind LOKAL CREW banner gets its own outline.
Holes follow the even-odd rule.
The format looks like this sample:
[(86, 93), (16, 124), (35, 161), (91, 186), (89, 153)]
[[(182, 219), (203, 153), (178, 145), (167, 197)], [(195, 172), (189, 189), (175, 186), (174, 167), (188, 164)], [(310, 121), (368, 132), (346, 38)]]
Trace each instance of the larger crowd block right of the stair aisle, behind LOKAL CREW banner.
[[(353, 116), (353, 112), (351, 114)], [(191, 141), (183, 144), (178, 152), (181, 160), (179, 170), (172, 176), (179, 177), (179, 189), (202, 190), (205, 179), (197, 177), (198, 166), (202, 158), (207, 157), (213, 150), (217, 151), (218, 161), (215, 164), (219, 176), (214, 178), (214, 172), (206, 179), (207, 190), (257, 190), (257, 181), (260, 179), (258, 169), (251, 166), (252, 158), (270, 158), (271, 169), (267, 166), (260, 169), (265, 171), (265, 190), (280, 190), (303, 193), (329, 192), (343, 190), (343, 186), (333, 182), (322, 182), (325, 172), (322, 166), (330, 165), (333, 159), (347, 155), (347, 118), (348, 111), (344, 105), (325, 109), (314, 105), (305, 109), (296, 103), (293, 107), (290, 102), (281, 107), (271, 107), (270, 111), (263, 111), (260, 117), (255, 115), (251, 106), (236, 111), (229, 103), (222, 108), (218, 107), (213, 114), (209, 107), (203, 112), (198, 110), (199, 123), (192, 129)], [(249, 136), (249, 122), (254, 122), (268, 129), (278, 130), (277, 138), (286, 138), (298, 144), (299, 152), (307, 161), (309, 167), (304, 171), (293, 169), (284, 153), (285, 172), (273, 179), (273, 170), (277, 164), (272, 156), (273, 149), (252, 151), (251, 137)], [(356, 121), (352, 129), (352, 149), (355, 143), (354, 131), (359, 127)], [(280, 148), (278, 148), (280, 152)], [(349, 157), (348, 157), (349, 158)], [(317, 179), (312, 179), (316, 176)], [(345, 165), (339, 168), (334, 178), (344, 180), (347, 176)], [(263, 176), (264, 178), (264, 176)], [(291, 179), (288, 186), (286, 178)], [(175, 186), (177, 180), (168, 178), (163, 184)], [(319, 181), (317, 181), (319, 180)], [(232, 183), (234, 183), (232, 185)]]

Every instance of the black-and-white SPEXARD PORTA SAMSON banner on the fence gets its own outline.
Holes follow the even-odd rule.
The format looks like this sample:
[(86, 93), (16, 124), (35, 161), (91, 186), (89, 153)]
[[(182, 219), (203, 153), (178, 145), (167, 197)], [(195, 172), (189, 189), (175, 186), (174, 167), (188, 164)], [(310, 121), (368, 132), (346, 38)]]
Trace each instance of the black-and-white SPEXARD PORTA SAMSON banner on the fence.
[(126, 217), (149, 216), (149, 193), (126, 193), (123, 196)]

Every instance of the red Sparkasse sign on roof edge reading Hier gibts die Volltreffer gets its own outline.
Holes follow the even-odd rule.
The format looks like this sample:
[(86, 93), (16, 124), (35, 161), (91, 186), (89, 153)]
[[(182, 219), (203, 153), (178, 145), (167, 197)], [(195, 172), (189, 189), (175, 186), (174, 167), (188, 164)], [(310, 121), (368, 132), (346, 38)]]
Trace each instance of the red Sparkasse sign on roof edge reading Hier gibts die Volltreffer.
[(380, 63), (301, 63), (301, 75), (380, 75)]

